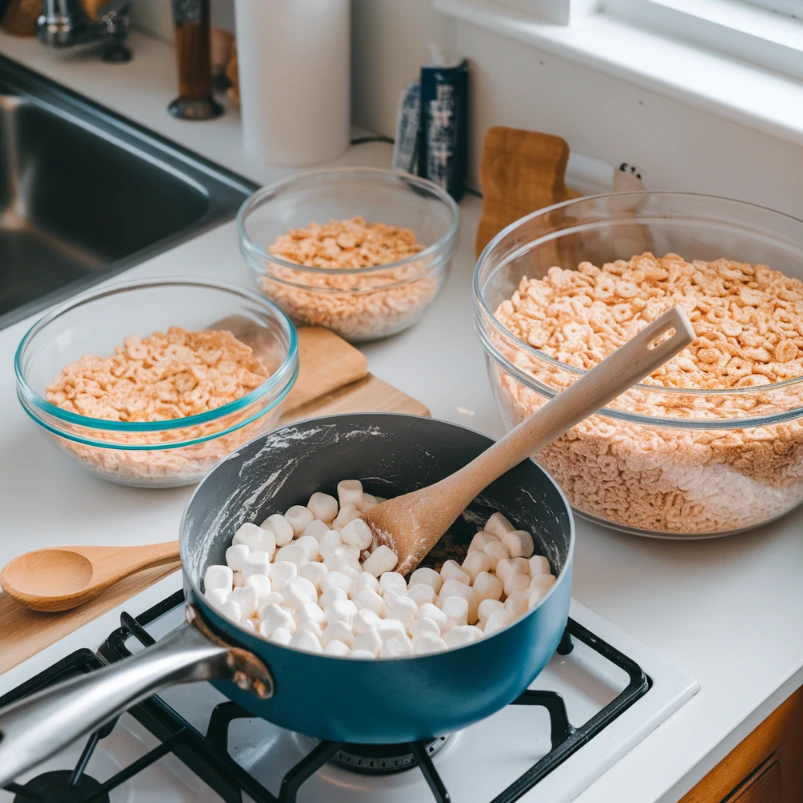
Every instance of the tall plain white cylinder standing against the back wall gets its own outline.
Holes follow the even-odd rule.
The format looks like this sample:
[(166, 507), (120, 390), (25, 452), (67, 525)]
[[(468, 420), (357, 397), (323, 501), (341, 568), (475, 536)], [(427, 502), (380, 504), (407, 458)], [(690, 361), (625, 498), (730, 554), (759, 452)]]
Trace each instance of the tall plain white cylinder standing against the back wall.
[(268, 162), (324, 162), (349, 146), (349, 0), (237, 0), (243, 145)]

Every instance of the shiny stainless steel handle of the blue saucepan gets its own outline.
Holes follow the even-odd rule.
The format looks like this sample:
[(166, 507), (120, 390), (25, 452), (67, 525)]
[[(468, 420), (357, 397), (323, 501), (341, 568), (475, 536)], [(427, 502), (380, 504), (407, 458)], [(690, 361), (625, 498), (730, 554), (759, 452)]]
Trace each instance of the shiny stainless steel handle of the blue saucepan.
[(176, 683), (229, 679), (261, 698), (273, 694), (265, 665), (218, 640), (188, 608), (189, 625), (131, 658), (71, 678), (0, 710), (0, 787)]

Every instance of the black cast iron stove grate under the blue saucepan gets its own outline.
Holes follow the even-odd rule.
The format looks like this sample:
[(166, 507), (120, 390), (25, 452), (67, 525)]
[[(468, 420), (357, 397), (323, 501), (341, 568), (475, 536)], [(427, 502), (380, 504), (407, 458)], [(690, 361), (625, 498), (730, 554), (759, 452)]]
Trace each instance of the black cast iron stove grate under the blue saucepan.
[[(126, 641), (130, 637), (136, 638), (143, 646), (150, 646), (154, 640), (145, 630), (145, 626), (183, 602), (183, 592), (179, 591), (136, 619), (123, 613), (120, 617), (121, 627), (109, 636), (97, 656), (90, 650), (78, 650), (4, 697), (0, 697), (0, 707), (79, 672), (91, 672), (106, 662), (111, 663), (127, 657), (130, 655), (130, 651), (126, 647)], [(606, 660), (624, 670), (628, 676), (626, 688), (588, 722), (577, 728), (569, 722), (566, 706), (559, 694), (530, 689), (525, 691), (512, 705), (542, 706), (548, 711), (551, 722), (552, 749), (490, 803), (513, 803), (518, 800), (649, 691), (650, 679), (638, 664), (610, 644), (597, 638), (582, 625), (569, 619), (558, 652), (562, 655), (571, 652), (574, 646), (573, 639), (580, 640)], [(284, 776), (277, 797), (247, 770), (243, 769), (228, 753), (230, 724), (237, 719), (251, 718), (252, 716), (235, 703), (221, 703), (214, 709), (206, 734), (199, 733), (159, 697), (151, 697), (134, 706), (129, 713), (151, 731), (160, 744), (107, 781), (103, 783), (95, 781), (86, 775), (85, 769), (98, 743), (112, 732), (115, 722), (109, 723), (89, 737), (81, 757), (72, 771), (50, 773), (57, 775), (56, 779), (44, 779), (44, 776), (37, 776), (25, 786), (9, 784), (5, 789), (15, 795), (15, 803), (48, 803), (53, 799), (69, 800), (70, 803), (107, 803), (112, 790), (163, 756), (172, 753), (214, 789), (224, 803), (242, 803), (243, 794), (249, 795), (257, 803), (296, 803), (298, 792), (304, 782), (324, 764), (336, 759), (339, 754), (360, 756), (366, 752), (370, 753), (370, 750), (366, 751), (365, 747), (361, 748), (360, 745), (320, 742)], [(432, 791), (435, 803), (451, 803), (449, 792), (431, 758), (432, 754), (436, 752), (436, 742), (424, 740), (408, 745), (398, 745), (399, 754), (412, 755), (414, 758), (412, 762), (406, 761), (400, 769), (407, 770), (418, 767)], [(361, 749), (363, 753), (361, 753)], [(39, 786), (35, 783), (37, 781)], [(63, 791), (59, 792), (59, 789), (56, 789), (54, 794), (51, 787), (48, 787), (47, 792), (43, 792), (42, 786), (47, 786), (48, 783), (62, 784), (59, 788)], [(455, 801), (455, 803), (459, 803), (459, 801)]]

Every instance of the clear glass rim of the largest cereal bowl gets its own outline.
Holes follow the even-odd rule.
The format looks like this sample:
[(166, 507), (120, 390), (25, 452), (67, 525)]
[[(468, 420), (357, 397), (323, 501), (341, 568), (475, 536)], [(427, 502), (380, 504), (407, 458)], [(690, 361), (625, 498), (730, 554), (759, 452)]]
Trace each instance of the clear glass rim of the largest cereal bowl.
[[(530, 213), (529, 215), (525, 215), (518, 220), (513, 221), (510, 225), (506, 226), (502, 231), (500, 231), (486, 246), (483, 248), (482, 253), (480, 254), (479, 258), (477, 259), (477, 264), (474, 269), (474, 280), (473, 280), (473, 295), (474, 295), (474, 305), (475, 310), (479, 313), (484, 313), (483, 316), (477, 316), (477, 325), (482, 326), (483, 320), (490, 319), (491, 326), (496, 329), (497, 333), (500, 334), (502, 337), (506, 338), (507, 340), (511, 341), (512, 345), (516, 346), (517, 348), (521, 348), (524, 352), (533, 357), (536, 360), (541, 360), (555, 368), (558, 368), (562, 371), (566, 371), (570, 374), (575, 374), (578, 377), (582, 376), (586, 373), (585, 370), (582, 368), (577, 368), (573, 365), (568, 365), (567, 363), (563, 363), (560, 360), (556, 360), (554, 357), (550, 357), (547, 354), (544, 354), (539, 349), (535, 349), (530, 346), (528, 343), (525, 343), (520, 338), (516, 337), (509, 329), (504, 327), (500, 321), (497, 319), (494, 312), (488, 306), (485, 295), (483, 293), (483, 288), (480, 287), (480, 271), (484, 264), (490, 258), (491, 251), (511, 232), (515, 231), (519, 226), (536, 219), (542, 215), (545, 215), (549, 212), (554, 211), (555, 209), (560, 209), (561, 207), (572, 206), (584, 201), (595, 201), (601, 200), (606, 198), (616, 198), (616, 199), (623, 199), (627, 198), (628, 196), (638, 196), (638, 197), (645, 197), (645, 196), (653, 196), (653, 197), (671, 197), (671, 198), (695, 198), (695, 199), (707, 199), (713, 201), (724, 201), (728, 204), (732, 204), (735, 206), (742, 206), (746, 208), (754, 208), (760, 209), (762, 212), (769, 212), (771, 215), (776, 215), (778, 217), (786, 218), (787, 220), (794, 221), (797, 224), (803, 225), (803, 220), (800, 218), (794, 217), (794, 215), (789, 215), (785, 212), (778, 212), (774, 209), (770, 209), (766, 206), (761, 206), (760, 204), (750, 203), (748, 201), (739, 201), (734, 198), (726, 198), (724, 196), (719, 195), (708, 195), (706, 193), (694, 193), (694, 192), (672, 192), (672, 191), (656, 191), (656, 190), (641, 190), (641, 191), (633, 191), (633, 192), (606, 192), (606, 193), (599, 193), (597, 195), (586, 195), (582, 196), (581, 198), (571, 198), (568, 201), (562, 201), (557, 204), (552, 204), (551, 206), (545, 206), (542, 209), (538, 209), (535, 212)], [(537, 242), (534, 240), (532, 242)], [(487, 284), (487, 280), (486, 280)], [(483, 343), (485, 345), (485, 343)], [(513, 364), (503, 355), (499, 355), (502, 360), (504, 360), (505, 367), (514, 368)], [(496, 359), (496, 358), (495, 358)], [(498, 362), (498, 360), (497, 360)], [(532, 379), (532, 377), (531, 377)], [(769, 385), (752, 385), (750, 387), (742, 387), (742, 388), (676, 388), (676, 387), (664, 387), (662, 385), (649, 385), (643, 382), (639, 382), (636, 385), (633, 385), (631, 390), (639, 390), (639, 391), (648, 391), (650, 393), (668, 393), (668, 394), (678, 394), (678, 395), (690, 395), (696, 397), (705, 397), (705, 396), (718, 396), (718, 397), (732, 397), (732, 396), (749, 396), (750, 394), (760, 394), (760, 393), (767, 393), (767, 392), (774, 392), (778, 389), (783, 389), (790, 387), (792, 385), (796, 385), (800, 382), (803, 382), (803, 376), (795, 377), (792, 379), (785, 379), (783, 382), (773, 382)], [(738, 427), (744, 428), (745, 426), (755, 426), (756, 424), (748, 424), (746, 422), (764, 422), (768, 419), (776, 420), (779, 416), (783, 416), (784, 418), (792, 418), (797, 417), (803, 413), (803, 408), (795, 408), (794, 414), (792, 415), (793, 411), (788, 411), (788, 413), (783, 414), (776, 414), (776, 415), (767, 415), (767, 416), (760, 416), (758, 418), (713, 418), (713, 419), (692, 419), (692, 418), (670, 418), (670, 417), (661, 417), (661, 416), (649, 416), (639, 413), (627, 413), (624, 410), (616, 410), (610, 407), (604, 407), (599, 411), (599, 414), (604, 415), (611, 415), (613, 417), (621, 417), (626, 418), (627, 420), (633, 420), (638, 422), (648, 422), (652, 424), (660, 423), (660, 422), (685, 422), (686, 424), (691, 424), (691, 422), (705, 422), (709, 428), (713, 428), (715, 422), (720, 422), (720, 426), (722, 422), (727, 422), (728, 426), (731, 427)], [(735, 423), (731, 423), (735, 422)]]

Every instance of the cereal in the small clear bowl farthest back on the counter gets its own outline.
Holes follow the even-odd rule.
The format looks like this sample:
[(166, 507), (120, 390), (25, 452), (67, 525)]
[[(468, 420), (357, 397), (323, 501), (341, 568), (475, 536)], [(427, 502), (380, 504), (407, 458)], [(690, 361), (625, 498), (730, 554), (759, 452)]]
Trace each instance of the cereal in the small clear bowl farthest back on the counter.
[(361, 217), (330, 220), (323, 226), (312, 222), (277, 237), (268, 252), (325, 270), (315, 273), (269, 263), (260, 286), (297, 323), (325, 326), (353, 341), (370, 340), (413, 323), (437, 294), (439, 283), (423, 261), (368, 269), (407, 259), (423, 248), (410, 229), (366, 223)]

